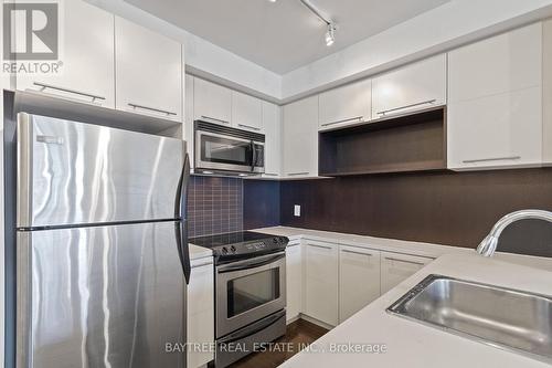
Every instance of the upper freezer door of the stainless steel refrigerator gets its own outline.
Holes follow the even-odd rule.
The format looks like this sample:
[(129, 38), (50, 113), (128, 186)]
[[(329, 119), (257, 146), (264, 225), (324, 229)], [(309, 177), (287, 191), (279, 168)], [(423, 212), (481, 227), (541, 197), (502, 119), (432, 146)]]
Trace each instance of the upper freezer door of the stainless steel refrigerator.
[(18, 228), (174, 218), (180, 139), (18, 115)]

